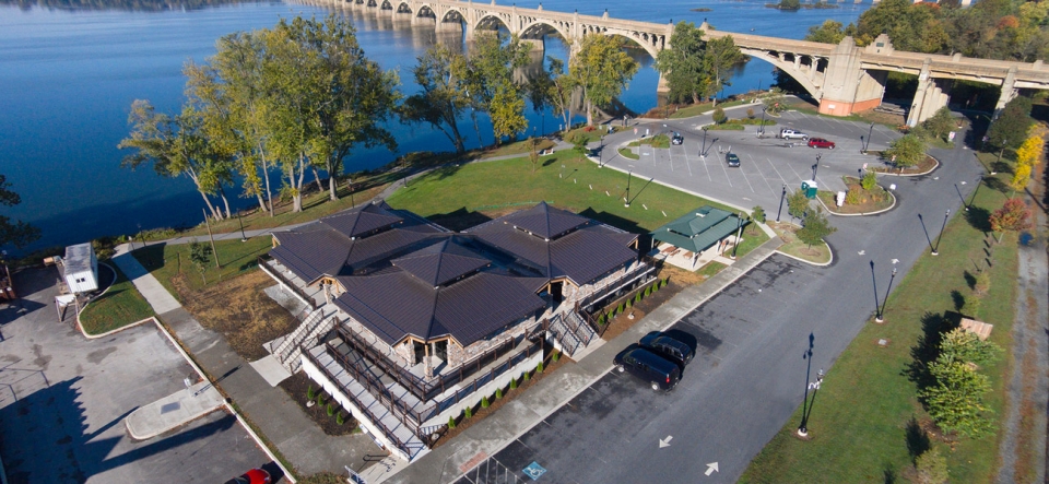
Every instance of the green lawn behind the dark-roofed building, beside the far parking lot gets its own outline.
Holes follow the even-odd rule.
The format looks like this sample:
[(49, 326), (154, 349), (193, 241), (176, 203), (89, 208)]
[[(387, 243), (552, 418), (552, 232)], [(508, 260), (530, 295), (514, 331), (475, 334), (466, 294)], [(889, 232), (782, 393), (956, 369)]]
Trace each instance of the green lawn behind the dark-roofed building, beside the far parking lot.
[[(562, 173), (564, 178), (561, 178)], [(623, 203), (626, 174), (598, 168), (575, 153), (558, 152), (534, 172), (527, 158), (440, 168), (413, 180), (387, 202), (453, 229), (467, 228), (544, 200), (636, 234), (652, 231), (703, 204), (733, 211), (644, 178), (633, 177), (629, 184), (632, 202), (626, 208)], [(755, 236), (744, 237), (740, 255), (767, 239), (761, 231)]]

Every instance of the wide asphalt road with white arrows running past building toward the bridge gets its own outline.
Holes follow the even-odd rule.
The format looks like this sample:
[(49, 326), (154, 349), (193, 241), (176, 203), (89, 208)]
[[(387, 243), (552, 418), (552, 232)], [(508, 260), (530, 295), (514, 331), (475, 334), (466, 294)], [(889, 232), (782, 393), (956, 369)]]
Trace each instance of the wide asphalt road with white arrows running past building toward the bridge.
[[(795, 122), (801, 129), (825, 122), (825, 132), (810, 134), (835, 141), (854, 132), (845, 122)], [(872, 150), (877, 142), (875, 135)], [(655, 393), (629, 376), (608, 374), (458, 482), (531, 482), (523, 469), (532, 462), (546, 470), (540, 482), (735, 482), (788, 423), (806, 381), (820, 368), (834, 371), (834, 361), (873, 315), (875, 297), (885, 297), (893, 268), (898, 283), (935, 243), (945, 212), (956, 213), (962, 196), (971, 192), (981, 168), (970, 151), (931, 153), (942, 161), (932, 174), (881, 178), (897, 185), (894, 210), (832, 219), (838, 232), (828, 237), (835, 252), (829, 267), (774, 256), (677, 321), (672, 330), (694, 338), (700, 356), (673, 392)], [(696, 177), (660, 179), (702, 193), (710, 187)], [(742, 194), (735, 197), (722, 200), (742, 204)]]

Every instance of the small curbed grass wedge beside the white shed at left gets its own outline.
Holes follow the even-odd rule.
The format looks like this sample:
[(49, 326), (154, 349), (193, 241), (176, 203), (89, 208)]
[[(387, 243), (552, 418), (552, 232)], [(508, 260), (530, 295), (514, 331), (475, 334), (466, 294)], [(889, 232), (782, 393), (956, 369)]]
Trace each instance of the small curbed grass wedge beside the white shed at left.
[[(80, 322), (87, 334), (102, 334), (153, 316), (150, 303), (139, 294), (123, 272), (113, 262), (105, 265), (116, 271), (116, 281), (80, 314)], [(105, 270), (102, 267), (99, 272)]]

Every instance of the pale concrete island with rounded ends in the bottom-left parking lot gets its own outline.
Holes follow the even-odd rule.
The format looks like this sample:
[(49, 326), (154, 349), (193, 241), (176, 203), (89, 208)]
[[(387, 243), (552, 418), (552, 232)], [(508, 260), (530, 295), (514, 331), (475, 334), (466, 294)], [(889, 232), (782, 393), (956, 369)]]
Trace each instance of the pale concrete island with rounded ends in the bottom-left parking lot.
[(219, 410), (222, 402), (219, 390), (201, 381), (131, 412), (125, 424), (131, 437), (145, 440)]

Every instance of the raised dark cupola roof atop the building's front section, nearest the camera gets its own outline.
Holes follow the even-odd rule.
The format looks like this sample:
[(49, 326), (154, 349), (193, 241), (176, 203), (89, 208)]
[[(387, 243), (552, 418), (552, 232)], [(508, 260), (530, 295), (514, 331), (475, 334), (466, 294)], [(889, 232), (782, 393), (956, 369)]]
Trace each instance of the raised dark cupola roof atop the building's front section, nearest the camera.
[(432, 286), (445, 284), (492, 263), (451, 238), (390, 262)]

